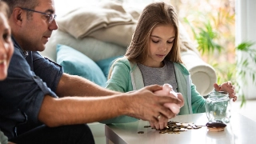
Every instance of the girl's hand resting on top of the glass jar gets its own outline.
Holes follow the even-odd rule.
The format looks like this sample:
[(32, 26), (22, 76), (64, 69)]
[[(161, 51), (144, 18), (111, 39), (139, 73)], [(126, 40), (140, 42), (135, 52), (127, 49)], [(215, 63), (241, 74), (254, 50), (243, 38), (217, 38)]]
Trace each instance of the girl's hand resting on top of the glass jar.
[(214, 83), (214, 89), (216, 91), (225, 91), (229, 94), (230, 98), (233, 98), (233, 102), (237, 100), (237, 96), (235, 95), (234, 86), (232, 85), (232, 82), (224, 82), (222, 85), (218, 85), (217, 83)]

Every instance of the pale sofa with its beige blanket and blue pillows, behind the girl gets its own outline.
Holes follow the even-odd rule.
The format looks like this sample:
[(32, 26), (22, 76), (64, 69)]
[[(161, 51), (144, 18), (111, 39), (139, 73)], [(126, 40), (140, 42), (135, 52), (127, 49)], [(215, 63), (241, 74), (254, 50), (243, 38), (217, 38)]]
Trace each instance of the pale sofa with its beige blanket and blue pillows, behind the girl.
[[(42, 56), (63, 66), (68, 74), (80, 75), (105, 86), (109, 64), (126, 53), (136, 27), (140, 10), (117, 2), (101, 2), (98, 6), (81, 7), (58, 18)], [(190, 71), (192, 82), (202, 96), (214, 89), (215, 70), (202, 60), (194, 42), (181, 22), (179, 24), (182, 61)], [(104, 125), (89, 124), (96, 143), (104, 143)]]

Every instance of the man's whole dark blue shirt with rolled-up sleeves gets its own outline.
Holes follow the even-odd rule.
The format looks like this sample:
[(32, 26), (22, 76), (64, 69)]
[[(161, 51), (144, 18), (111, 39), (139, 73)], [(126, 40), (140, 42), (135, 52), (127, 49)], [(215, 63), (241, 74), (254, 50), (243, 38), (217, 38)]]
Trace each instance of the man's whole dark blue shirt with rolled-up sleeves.
[(0, 82), (0, 130), (13, 138), (36, 126), (42, 100), (46, 94), (58, 98), (54, 91), (62, 77), (62, 66), (43, 58), (38, 52), (28, 55), (14, 40), (14, 54), (8, 76)]

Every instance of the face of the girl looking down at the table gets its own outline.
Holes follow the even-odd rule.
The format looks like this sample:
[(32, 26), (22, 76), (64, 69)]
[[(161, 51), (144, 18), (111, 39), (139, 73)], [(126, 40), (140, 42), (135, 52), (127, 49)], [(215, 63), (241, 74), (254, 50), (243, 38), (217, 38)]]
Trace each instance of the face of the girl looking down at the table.
[(148, 56), (143, 64), (150, 67), (162, 67), (163, 59), (166, 58), (174, 45), (174, 38), (174, 26), (155, 26), (150, 34)]

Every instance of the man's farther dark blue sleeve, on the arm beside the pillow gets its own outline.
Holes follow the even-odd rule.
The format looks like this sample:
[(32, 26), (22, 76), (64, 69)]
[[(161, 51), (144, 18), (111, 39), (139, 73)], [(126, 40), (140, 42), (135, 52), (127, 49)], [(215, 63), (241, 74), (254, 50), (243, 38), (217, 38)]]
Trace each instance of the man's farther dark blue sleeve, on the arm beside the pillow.
[(50, 61), (48, 58), (42, 57), (38, 52), (32, 52), (34, 73), (42, 78), (46, 85), (56, 92), (58, 82), (60, 81), (63, 69), (56, 62)]

